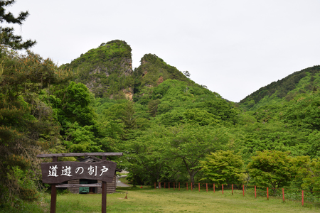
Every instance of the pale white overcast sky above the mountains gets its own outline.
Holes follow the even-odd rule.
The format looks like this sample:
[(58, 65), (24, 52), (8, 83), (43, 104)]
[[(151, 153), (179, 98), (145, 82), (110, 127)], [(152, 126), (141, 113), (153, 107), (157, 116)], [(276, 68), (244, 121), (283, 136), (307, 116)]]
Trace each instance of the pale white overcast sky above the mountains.
[(146, 53), (239, 102), (292, 72), (320, 64), (319, 0), (17, 0), (30, 16), (16, 34), (61, 65), (110, 40)]

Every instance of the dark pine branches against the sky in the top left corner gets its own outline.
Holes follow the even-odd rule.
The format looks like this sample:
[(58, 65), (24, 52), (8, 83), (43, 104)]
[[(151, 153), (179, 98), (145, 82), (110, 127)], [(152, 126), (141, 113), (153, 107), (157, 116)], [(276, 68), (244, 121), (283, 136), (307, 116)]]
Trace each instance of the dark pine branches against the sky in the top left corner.
[[(7, 0), (0, 1), (0, 22), (1, 23), (18, 23), (18, 25), (22, 25), (23, 21), (26, 20), (29, 13), (28, 11), (20, 12), (17, 17), (15, 17), (12, 13), (6, 12), (6, 7), (11, 6), (15, 3), (15, 0)], [(36, 44), (35, 40), (26, 40), (22, 41), (20, 35), (14, 35), (14, 28), (10, 27), (1, 27), (0, 26), (0, 43), (1, 45), (5, 45), (14, 50), (22, 50), (31, 48)]]

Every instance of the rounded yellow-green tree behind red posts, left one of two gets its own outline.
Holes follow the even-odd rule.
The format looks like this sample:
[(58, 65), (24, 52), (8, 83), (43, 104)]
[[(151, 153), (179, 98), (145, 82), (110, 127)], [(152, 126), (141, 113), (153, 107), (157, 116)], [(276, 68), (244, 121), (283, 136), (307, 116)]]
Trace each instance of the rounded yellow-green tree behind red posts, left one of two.
[(201, 172), (206, 178), (218, 184), (238, 183), (245, 177), (243, 173), (243, 160), (233, 151), (217, 151), (210, 153), (200, 161)]

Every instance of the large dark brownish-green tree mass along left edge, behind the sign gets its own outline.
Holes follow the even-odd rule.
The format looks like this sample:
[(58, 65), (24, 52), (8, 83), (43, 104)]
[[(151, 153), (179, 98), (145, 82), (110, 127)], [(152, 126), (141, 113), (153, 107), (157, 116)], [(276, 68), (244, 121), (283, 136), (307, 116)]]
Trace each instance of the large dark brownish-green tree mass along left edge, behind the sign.
[(49, 84), (63, 82), (65, 72), (39, 55), (18, 55), (0, 48), (1, 205), (26, 198), (19, 192), (35, 192), (30, 185), (21, 185), (19, 178), (35, 178), (39, 174), (36, 154), (55, 147), (59, 141), (53, 111), (39, 94)]

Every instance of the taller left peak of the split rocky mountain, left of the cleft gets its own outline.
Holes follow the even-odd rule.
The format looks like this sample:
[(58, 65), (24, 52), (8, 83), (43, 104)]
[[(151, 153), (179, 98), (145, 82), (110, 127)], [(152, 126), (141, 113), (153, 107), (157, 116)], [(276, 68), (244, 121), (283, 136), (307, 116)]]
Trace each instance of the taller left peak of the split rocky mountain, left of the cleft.
[(63, 66), (78, 72), (75, 81), (85, 84), (96, 97), (132, 99), (131, 51), (125, 41), (112, 40)]

